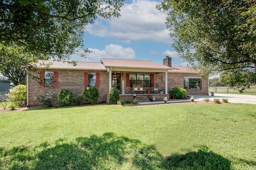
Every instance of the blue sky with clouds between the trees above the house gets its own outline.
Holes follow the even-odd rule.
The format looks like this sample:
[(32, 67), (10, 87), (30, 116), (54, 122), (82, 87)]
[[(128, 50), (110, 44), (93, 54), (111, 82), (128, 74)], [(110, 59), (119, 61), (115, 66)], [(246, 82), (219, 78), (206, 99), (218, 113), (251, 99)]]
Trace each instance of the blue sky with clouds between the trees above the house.
[(159, 1), (125, 1), (119, 18), (98, 18), (86, 26), (84, 48), (92, 51), (88, 57), (76, 55), (72, 60), (100, 62), (101, 58), (149, 60), (162, 64), (166, 55), (173, 66), (186, 66), (172, 48), (170, 31), (166, 29), (166, 14), (156, 9)]

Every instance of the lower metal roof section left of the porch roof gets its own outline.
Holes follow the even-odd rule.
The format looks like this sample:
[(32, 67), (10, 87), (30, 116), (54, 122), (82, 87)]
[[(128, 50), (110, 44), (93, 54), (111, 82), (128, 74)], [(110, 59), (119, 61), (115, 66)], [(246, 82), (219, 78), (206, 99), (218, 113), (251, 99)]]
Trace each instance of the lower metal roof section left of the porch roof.
[(51, 69), (74, 69), (74, 70), (106, 70), (102, 63), (90, 63), (90, 62), (76, 62), (74, 66), (72, 63), (62, 61), (46, 61), (41, 60), (36, 65), (37, 68), (46, 68), (46, 65)]

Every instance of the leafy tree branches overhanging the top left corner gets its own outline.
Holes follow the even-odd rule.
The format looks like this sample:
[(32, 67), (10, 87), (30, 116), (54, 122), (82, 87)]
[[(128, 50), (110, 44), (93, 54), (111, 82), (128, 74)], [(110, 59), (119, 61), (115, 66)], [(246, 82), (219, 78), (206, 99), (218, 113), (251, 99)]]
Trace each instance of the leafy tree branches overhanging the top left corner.
[(120, 16), (122, 5), (123, 0), (1, 0), (0, 70), (6, 63), (22, 66), (40, 56), (68, 61), (83, 47), (85, 26), (97, 16)]

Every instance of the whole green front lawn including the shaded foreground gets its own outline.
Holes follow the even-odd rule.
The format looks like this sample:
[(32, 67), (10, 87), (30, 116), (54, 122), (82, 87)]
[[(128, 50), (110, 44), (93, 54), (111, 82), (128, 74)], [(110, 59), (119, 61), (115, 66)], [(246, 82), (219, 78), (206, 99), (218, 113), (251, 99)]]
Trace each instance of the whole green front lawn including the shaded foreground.
[(256, 170), (256, 105), (0, 113), (0, 169)]

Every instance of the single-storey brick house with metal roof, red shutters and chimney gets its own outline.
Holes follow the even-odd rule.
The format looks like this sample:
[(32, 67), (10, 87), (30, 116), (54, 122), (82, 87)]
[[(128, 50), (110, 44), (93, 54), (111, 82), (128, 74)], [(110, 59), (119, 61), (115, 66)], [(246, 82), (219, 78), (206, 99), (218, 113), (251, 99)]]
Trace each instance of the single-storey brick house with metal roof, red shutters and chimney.
[[(42, 66), (50, 64), (50, 66)], [(100, 63), (77, 62), (76, 66), (58, 61), (40, 61), (37, 71), (29, 71), (27, 75), (27, 106), (42, 105), (36, 97), (40, 94), (57, 94), (66, 89), (73, 94), (82, 94), (88, 86), (99, 90), (97, 102), (108, 103), (108, 93), (112, 87), (120, 91), (120, 100), (132, 100), (132, 84), (143, 84), (143, 89), (150, 89), (150, 94), (138, 94), (143, 101), (152, 98), (156, 101), (165, 96), (176, 86), (185, 88), (188, 94), (208, 95), (208, 80), (202, 79), (198, 71), (189, 67), (172, 66), (170, 57), (164, 59), (164, 64), (152, 61), (136, 61), (122, 59), (101, 59)], [(40, 84), (32, 76), (42, 77)], [(152, 94), (154, 84), (159, 84), (163, 94)], [(139, 99), (139, 98), (138, 98)], [(58, 104), (58, 101), (55, 101)]]

